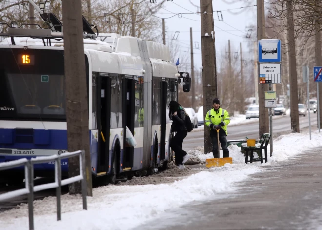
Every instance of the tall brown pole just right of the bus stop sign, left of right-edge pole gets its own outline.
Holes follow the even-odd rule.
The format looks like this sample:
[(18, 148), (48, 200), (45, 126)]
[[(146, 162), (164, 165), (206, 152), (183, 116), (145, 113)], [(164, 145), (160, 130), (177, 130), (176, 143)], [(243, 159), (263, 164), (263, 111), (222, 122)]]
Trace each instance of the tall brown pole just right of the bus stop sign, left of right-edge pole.
[(287, 0), (287, 40), (289, 42), (289, 82), (290, 82), (290, 105), (291, 105), (291, 129), (292, 132), (300, 132), (299, 124), (299, 100), (298, 100), (298, 81), (296, 73), (296, 53), (295, 53), (295, 38), (294, 38), (294, 23), (293, 23), (293, 0)]

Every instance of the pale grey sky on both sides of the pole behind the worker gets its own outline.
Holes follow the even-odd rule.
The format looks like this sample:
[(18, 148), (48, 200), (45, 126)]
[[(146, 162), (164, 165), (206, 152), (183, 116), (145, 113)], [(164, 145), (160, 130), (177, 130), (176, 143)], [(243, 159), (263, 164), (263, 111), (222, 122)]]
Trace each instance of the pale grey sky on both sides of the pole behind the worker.
[[(194, 5), (200, 6), (200, 0), (191, 0)], [(233, 2), (232, 4), (228, 4)], [(234, 3), (235, 2), (235, 3)], [(225, 58), (222, 56), (225, 46), (230, 39), (232, 45), (232, 52), (239, 51), (239, 43), (243, 43), (243, 57), (252, 58), (253, 55), (247, 52), (247, 43), (255, 41), (256, 31), (252, 32), (251, 39), (246, 39), (248, 26), (256, 25), (256, 0), (213, 0), (213, 10), (222, 11), (223, 21), (218, 21), (217, 13), (214, 12), (215, 25), (215, 40), (216, 40), (216, 56), (217, 63), (219, 59)], [(252, 6), (244, 9), (235, 9), (244, 6)], [(160, 18), (168, 18), (173, 16), (173, 13), (191, 13), (198, 12), (199, 8), (193, 6), (189, 0), (173, 0), (165, 2), (164, 9), (161, 9), (157, 14)], [(185, 9), (184, 9), (185, 8)], [(227, 10), (234, 9), (234, 10)], [(173, 12), (170, 13), (169, 11)], [(241, 13), (239, 13), (241, 12)], [(221, 14), (218, 14), (221, 18)], [(199, 49), (194, 49), (194, 62), (197, 68), (201, 67), (201, 22), (199, 14), (182, 14), (182, 18), (174, 16), (165, 19), (165, 26), (167, 31), (167, 44), (176, 31), (180, 31), (176, 43), (181, 46), (181, 52), (188, 52), (190, 54), (190, 27), (193, 31), (194, 42), (199, 43)], [(234, 28), (233, 28), (234, 27)], [(226, 30), (224, 32), (222, 30)], [(161, 37), (160, 37), (161, 39)], [(161, 42), (161, 40), (160, 40)], [(195, 44), (194, 44), (195, 45)], [(238, 49), (238, 50), (237, 50)], [(252, 55), (252, 56), (249, 56)], [(180, 58), (181, 54), (178, 54)], [(189, 55), (190, 61), (190, 55)]]

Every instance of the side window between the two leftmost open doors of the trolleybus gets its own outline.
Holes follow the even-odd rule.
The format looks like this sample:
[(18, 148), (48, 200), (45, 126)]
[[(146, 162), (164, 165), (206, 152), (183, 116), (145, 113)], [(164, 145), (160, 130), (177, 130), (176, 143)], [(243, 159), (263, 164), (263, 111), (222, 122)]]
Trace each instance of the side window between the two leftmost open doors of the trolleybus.
[(111, 76), (111, 128), (122, 128), (122, 76)]

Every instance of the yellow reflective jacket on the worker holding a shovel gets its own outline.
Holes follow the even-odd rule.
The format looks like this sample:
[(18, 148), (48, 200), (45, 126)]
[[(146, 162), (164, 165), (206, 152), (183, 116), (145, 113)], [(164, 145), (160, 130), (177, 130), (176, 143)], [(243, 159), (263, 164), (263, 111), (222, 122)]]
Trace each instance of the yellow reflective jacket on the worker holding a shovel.
[(217, 111), (211, 109), (207, 112), (204, 124), (210, 128), (211, 124), (221, 125), (221, 128), (227, 132), (227, 125), (230, 123), (230, 117), (227, 110), (219, 108)]

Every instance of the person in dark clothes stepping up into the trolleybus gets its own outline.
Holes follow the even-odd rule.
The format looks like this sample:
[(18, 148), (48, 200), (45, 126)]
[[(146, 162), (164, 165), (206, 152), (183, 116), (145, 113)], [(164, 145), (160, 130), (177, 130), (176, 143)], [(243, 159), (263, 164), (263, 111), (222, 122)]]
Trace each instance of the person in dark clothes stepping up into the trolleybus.
[(190, 155), (182, 149), (183, 139), (187, 136), (187, 127), (185, 125), (185, 116), (188, 116), (184, 108), (176, 101), (169, 104), (169, 118), (172, 120), (171, 131), (176, 135), (171, 139), (170, 147), (176, 153), (176, 164), (179, 169), (185, 168), (184, 163), (190, 158)]

